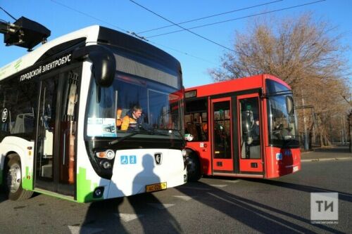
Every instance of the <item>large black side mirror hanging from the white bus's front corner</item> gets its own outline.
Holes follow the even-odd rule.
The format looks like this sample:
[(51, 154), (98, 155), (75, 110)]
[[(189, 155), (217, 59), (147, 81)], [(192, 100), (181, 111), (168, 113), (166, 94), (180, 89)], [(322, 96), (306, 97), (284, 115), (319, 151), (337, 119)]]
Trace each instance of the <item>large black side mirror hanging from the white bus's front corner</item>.
[(101, 45), (84, 46), (73, 51), (75, 60), (92, 60), (92, 73), (96, 84), (102, 87), (108, 87), (113, 84), (116, 70), (116, 60), (113, 52)]

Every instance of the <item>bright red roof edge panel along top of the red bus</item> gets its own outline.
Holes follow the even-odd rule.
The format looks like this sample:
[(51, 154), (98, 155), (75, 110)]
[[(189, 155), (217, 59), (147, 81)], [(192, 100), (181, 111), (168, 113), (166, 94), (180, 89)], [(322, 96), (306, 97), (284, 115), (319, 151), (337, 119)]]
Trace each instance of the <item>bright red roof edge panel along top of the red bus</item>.
[(272, 74), (258, 74), (252, 77), (242, 77), (238, 79), (231, 79), (225, 82), (216, 82), (213, 84), (189, 87), (185, 89), (185, 91), (187, 92), (196, 90), (196, 96), (202, 97), (248, 89), (260, 89), (261, 87), (265, 88), (265, 79), (272, 79), (275, 82), (279, 82), (280, 84), (283, 84), (284, 86), (287, 86), (287, 88), (291, 89), (288, 84), (283, 82), (281, 79), (273, 76)]

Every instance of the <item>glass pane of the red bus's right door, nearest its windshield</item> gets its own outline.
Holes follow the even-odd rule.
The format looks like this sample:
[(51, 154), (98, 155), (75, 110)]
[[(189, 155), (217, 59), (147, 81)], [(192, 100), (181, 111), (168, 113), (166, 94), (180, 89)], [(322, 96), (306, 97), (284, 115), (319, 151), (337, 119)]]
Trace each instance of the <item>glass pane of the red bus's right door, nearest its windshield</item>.
[(260, 158), (258, 98), (240, 100), (241, 158)]

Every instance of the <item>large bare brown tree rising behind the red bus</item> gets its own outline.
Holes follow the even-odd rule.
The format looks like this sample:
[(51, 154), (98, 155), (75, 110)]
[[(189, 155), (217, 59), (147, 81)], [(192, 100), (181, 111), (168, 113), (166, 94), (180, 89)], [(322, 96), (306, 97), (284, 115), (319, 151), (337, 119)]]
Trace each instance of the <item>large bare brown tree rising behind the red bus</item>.
[[(318, 117), (316, 134), (322, 145), (329, 145), (334, 124), (329, 117), (350, 107), (344, 96), (351, 84), (348, 48), (341, 46), (342, 34), (325, 20), (313, 20), (310, 13), (283, 20), (260, 18), (249, 22), (246, 32), (236, 32), (234, 52), (225, 53), (222, 65), (209, 70), (215, 82), (268, 73), (291, 86), (296, 105), (313, 105)], [(308, 123), (312, 131), (314, 124)]]

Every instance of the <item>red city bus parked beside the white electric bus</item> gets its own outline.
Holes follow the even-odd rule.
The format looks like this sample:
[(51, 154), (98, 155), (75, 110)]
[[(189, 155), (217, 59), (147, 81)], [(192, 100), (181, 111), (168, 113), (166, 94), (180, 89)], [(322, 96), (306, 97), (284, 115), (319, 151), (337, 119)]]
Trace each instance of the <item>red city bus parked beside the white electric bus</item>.
[(301, 169), (291, 88), (270, 74), (185, 90), (189, 181), (275, 178)]

